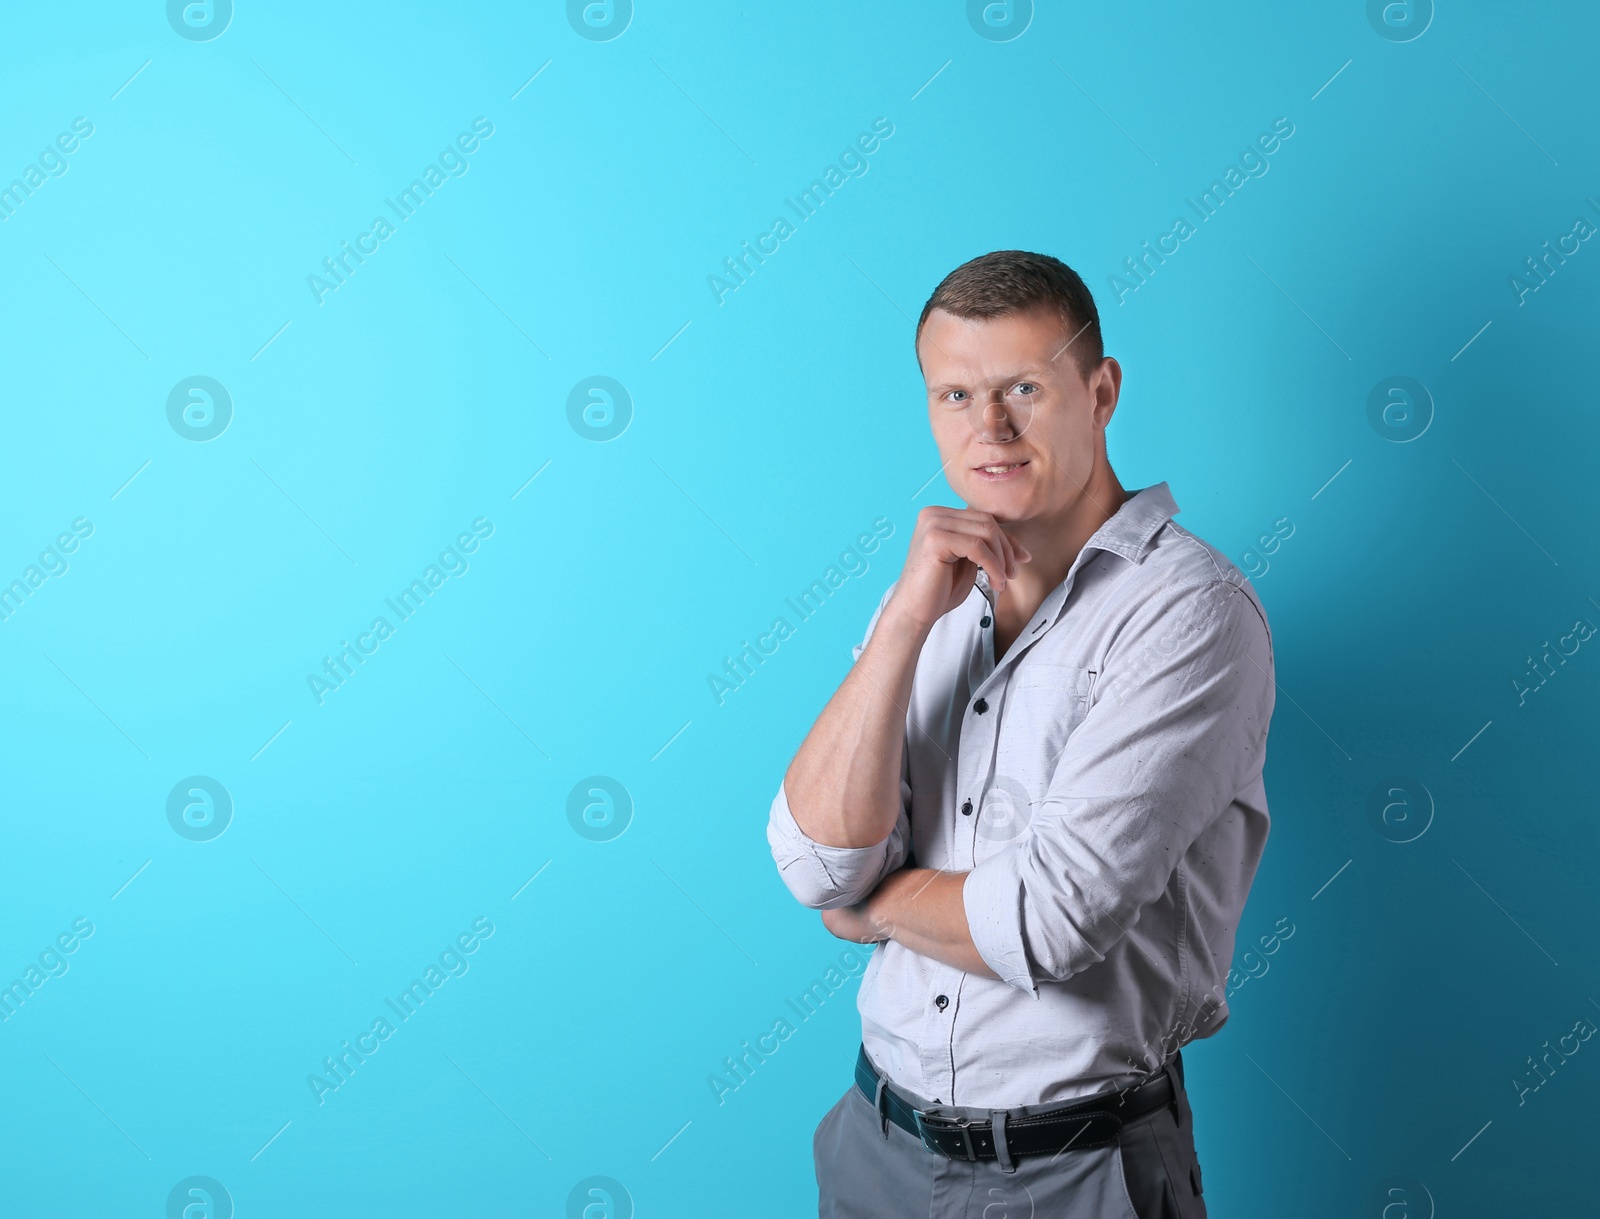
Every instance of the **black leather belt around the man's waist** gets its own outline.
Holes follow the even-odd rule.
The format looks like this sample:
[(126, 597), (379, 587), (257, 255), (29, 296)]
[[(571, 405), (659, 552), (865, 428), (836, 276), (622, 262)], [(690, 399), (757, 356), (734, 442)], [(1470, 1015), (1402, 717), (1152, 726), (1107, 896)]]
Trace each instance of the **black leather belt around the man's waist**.
[[(1173, 1067), (1181, 1081), (1182, 1059), (1176, 1057)], [(1166, 1070), (1123, 1091), (1072, 1101), (1043, 1113), (1014, 1117), (1008, 1110), (992, 1110), (992, 1118), (963, 1118), (915, 1109), (878, 1075), (862, 1046), (856, 1057), (856, 1086), (883, 1121), (915, 1134), (930, 1152), (950, 1160), (1000, 1160), (1006, 1168), (1021, 1155), (1104, 1147), (1126, 1123), (1163, 1105), (1171, 1105), (1178, 1115), (1178, 1094)]]

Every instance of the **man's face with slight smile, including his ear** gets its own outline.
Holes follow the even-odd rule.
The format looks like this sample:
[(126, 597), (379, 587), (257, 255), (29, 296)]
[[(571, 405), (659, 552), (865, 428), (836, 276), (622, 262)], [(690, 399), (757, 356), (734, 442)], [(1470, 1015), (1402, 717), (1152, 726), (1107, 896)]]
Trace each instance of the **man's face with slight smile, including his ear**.
[(1053, 310), (958, 318), (934, 309), (917, 352), (950, 488), (1000, 522), (1058, 517), (1102, 461), (1122, 368), (1085, 379)]

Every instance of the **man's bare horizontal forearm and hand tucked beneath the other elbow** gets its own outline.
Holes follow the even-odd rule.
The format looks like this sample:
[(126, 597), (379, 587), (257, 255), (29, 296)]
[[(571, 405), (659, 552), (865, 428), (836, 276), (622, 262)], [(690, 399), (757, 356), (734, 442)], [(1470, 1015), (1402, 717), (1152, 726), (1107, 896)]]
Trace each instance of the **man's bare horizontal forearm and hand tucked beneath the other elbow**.
[(965, 885), (965, 872), (906, 867), (886, 875), (864, 902), (822, 910), (822, 926), (856, 944), (893, 939), (955, 969), (998, 977), (973, 944)]

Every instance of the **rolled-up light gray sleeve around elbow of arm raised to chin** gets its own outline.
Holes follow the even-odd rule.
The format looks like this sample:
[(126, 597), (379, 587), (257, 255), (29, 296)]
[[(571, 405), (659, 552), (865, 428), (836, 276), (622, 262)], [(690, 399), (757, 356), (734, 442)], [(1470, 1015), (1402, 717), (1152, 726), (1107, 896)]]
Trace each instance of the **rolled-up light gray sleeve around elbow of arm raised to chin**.
[[(893, 594), (894, 584), (890, 584), (872, 613), (872, 621), (867, 622), (866, 635), (851, 648), (853, 662), (861, 659)], [(802, 905), (810, 905), (813, 910), (854, 905), (872, 893), (883, 877), (901, 867), (910, 851), (909, 750), (904, 745), (901, 749), (901, 813), (883, 841), (874, 846), (824, 846), (795, 822), (786, 784), (778, 785), (778, 797), (766, 819), (766, 841), (773, 848), (778, 875)]]

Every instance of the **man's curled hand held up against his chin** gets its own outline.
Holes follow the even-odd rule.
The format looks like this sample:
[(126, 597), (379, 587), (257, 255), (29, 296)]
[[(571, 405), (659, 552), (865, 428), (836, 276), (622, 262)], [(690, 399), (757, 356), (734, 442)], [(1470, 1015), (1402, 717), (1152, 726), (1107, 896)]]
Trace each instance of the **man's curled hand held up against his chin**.
[(978, 568), (989, 574), (998, 597), (1018, 563), (1032, 555), (1000, 528), (990, 514), (978, 509), (925, 507), (917, 514), (906, 566), (890, 608), (922, 630), (966, 600), (978, 579)]

